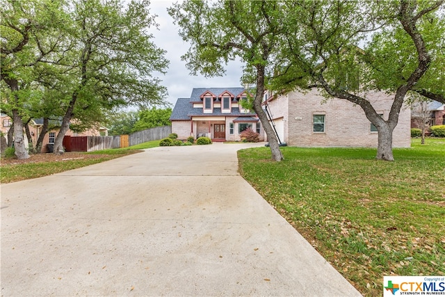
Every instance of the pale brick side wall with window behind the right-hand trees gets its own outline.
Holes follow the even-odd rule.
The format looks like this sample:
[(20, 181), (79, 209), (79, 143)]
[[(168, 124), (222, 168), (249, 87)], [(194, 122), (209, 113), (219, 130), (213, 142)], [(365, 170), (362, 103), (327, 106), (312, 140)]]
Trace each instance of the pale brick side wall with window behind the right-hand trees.
[[(388, 118), (392, 97), (385, 93), (366, 95), (375, 111)], [(345, 99), (328, 99), (316, 90), (292, 92), (269, 103), (274, 118), (284, 117), (284, 141), (302, 147), (377, 147), (378, 134), (371, 132), (371, 122), (358, 105)], [(313, 115), (325, 115), (325, 131), (313, 132)], [(393, 147), (410, 147), (409, 108), (403, 108), (394, 129)]]

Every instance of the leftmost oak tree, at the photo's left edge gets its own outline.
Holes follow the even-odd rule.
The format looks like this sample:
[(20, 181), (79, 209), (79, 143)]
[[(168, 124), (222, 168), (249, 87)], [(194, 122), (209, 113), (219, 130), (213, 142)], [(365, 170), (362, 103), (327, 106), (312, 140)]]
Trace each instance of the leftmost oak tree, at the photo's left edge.
[(1, 111), (13, 119), (15, 155), (27, 159), (24, 124), (44, 100), (36, 67), (54, 62), (63, 41), (63, 1), (1, 2)]

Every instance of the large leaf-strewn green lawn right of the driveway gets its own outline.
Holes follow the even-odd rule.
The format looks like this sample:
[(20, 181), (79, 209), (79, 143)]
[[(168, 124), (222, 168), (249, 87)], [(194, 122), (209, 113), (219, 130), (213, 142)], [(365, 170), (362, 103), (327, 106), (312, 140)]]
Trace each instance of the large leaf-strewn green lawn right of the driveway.
[(267, 147), (238, 152), (243, 177), (364, 296), (385, 275), (445, 274), (445, 139), (394, 149)]

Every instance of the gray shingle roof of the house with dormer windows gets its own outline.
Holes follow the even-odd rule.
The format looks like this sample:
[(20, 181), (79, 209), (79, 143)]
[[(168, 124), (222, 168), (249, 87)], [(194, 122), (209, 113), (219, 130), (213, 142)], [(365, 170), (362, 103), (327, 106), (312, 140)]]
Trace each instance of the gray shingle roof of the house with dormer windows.
[(173, 108), (170, 120), (191, 120), (191, 116), (237, 116), (237, 117), (252, 117), (255, 113), (241, 113), (238, 107), (232, 108), (231, 113), (222, 113), (220, 108), (213, 109), (213, 113), (204, 113), (202, 108), (194, 109), (192, 102), (201, 102), (200, 96), (209, 91), (216, 96), (225, 91), (232, 93), (235, 97), (243, 93), (244, 88), (193, 88), (190, 98), (178, 98)]

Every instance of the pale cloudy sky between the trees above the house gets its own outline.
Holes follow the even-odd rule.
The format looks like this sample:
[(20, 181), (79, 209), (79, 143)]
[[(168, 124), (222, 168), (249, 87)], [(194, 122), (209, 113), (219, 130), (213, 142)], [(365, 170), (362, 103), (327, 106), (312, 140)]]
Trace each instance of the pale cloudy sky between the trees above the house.
[[(176, 0), (175, 0), (176, 1)], [(170, 61), (167, 74), (160, 75), (163, 86), (168, 89), (168, 102), (175, 104), (178, 98), (190, 97), (193, 88), (232, 88), (239, 87), (241, 78), (241, 63), (232, 62), (226, 67), (225, 77), (213, 77), (206, 79), (203, 76), (192, 76), (186, 69), (186, 62), (181, 61), (181, 56), (189, 48), (178, 35), (178, 26), (173, 24), (173, 19), (168, 15), (167, 8), (175, 1), (152, 0), (150, 11), (158, 15), (156, 22), (159, 31), (153, 31), (154, 43), (167, 51), (166, 58)]]

